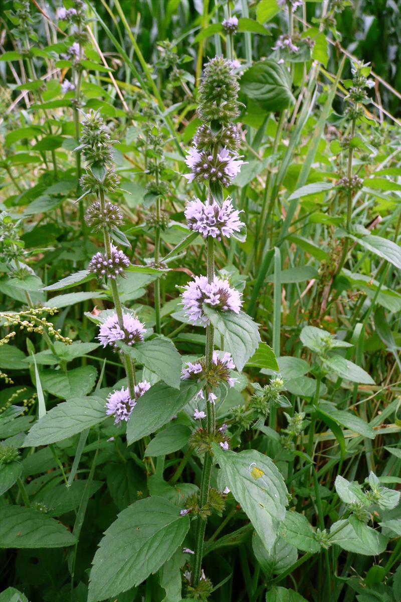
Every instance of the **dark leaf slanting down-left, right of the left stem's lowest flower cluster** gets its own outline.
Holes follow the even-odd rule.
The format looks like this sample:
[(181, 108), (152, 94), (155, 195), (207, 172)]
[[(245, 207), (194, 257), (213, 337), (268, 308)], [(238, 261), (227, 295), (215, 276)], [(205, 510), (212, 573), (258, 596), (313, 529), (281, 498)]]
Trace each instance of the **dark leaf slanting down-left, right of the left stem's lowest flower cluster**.
[(178, 414), (198, 393), (199, 386), (182, 382), (180, 389), (173, 389), (157, 382), (139, 397), (127, 423), (127, 444), (155, 433)]

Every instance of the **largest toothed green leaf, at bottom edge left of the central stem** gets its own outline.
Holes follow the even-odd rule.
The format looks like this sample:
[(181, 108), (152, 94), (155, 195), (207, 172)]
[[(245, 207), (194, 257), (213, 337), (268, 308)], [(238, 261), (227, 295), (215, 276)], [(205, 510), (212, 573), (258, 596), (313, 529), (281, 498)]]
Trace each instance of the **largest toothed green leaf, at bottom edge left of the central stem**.
[(120, 512), (94, 556), (88, 602), (142, 583), (173, 556), (188, 530), (189, 517), (162, 497), (136, 501)]

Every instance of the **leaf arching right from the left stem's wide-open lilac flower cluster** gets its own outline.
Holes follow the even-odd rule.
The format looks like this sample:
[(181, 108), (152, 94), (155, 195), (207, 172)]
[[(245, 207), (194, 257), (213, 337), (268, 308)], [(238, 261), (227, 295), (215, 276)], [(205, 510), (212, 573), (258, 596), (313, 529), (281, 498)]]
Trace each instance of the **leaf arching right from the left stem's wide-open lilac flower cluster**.
[(157, 337), (132, 347), (118, 343), (118, 347), (136, 359), (139, 364), (157, 374), (167, 385), (180, 388), (182, 359), (170, 339)]

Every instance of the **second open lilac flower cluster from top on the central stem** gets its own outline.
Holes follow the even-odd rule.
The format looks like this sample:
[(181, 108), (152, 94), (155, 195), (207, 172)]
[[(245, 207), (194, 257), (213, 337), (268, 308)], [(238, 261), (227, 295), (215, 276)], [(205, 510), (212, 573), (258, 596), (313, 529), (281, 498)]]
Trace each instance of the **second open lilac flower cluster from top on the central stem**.
[(212, 236), (221, 240), (222, 236), (230, 238), (233, 232), (240, 232), (245, 224), (239, 220), (240, 212), (233, 208), (230, 197), (227, 197), (222, 206), (213, 200), (212, 203), (203, 203), (200, 199), (191, 200), (185, 208), (185, 217), (189, 228), (199, 232), (206, 238)]

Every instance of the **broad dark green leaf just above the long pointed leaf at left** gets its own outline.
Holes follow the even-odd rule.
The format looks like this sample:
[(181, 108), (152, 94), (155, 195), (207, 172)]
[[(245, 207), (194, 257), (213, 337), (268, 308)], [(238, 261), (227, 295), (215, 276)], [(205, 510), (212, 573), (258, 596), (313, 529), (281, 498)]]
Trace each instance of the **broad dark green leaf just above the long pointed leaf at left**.
[(62, 399), (84, 397), (93, 389), (97, 370), (94, 366), (81, 366), (73, 370), (44, 370), (41, 384), (46, 391)]

